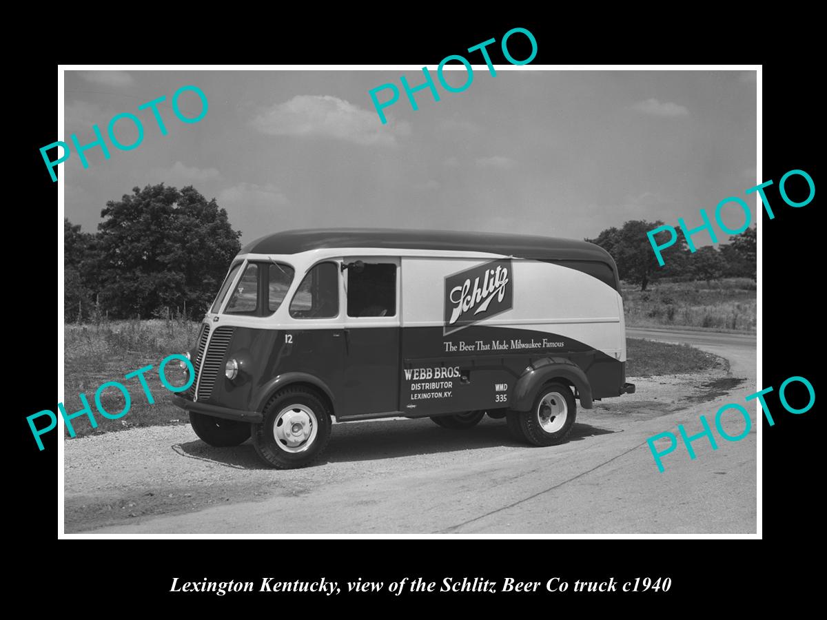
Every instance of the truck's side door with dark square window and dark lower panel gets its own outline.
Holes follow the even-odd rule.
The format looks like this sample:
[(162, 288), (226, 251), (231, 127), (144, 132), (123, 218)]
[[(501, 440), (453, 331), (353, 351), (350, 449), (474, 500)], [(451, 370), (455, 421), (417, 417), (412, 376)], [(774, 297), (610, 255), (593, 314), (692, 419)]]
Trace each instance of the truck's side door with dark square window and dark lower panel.
[(399, 259), (346, 256), (343, 264), (343, 415), (398, 411)]

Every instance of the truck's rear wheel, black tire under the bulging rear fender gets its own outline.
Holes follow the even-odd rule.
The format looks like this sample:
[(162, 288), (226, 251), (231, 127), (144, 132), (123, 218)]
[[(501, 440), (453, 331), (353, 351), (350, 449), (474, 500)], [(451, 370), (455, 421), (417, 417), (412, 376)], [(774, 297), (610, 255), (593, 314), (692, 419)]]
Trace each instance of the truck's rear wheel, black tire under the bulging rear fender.
[[(562, 417), (562, 420), (561, 420)], [(543, 385), (529, 411), (509, 411), (509, 431), (534, 446), (554, 446), (571, 432), (577, 417), (577, 403), (564, 384)]]

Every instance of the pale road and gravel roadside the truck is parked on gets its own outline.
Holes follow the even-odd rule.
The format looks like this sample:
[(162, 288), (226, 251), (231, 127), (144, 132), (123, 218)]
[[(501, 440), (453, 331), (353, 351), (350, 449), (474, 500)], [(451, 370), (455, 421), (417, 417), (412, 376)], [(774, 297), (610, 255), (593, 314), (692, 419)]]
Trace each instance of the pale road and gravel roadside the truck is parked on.
[[(743, 403), (743, 396), (755, 391), (754, 336), (634, 329), (629, 329), (629, 336), (691, 342), (725, 356), (732, 376), (745, 380), (726, 393), (727, 389), (720, 389), (720, 370), (717, 375), (689, 381), (635, 379), (638, 393), (580, 410), (571, 441), (548, 448), (515, 444), (503, 422), (487, 418), (462, 433), (447, 432), (428, 420), (337, 424), (327, 462), (289, 472), (261, 469), (248, 445), (221, 452), (193, 440), (170, 450), (165, 444), (168, 436), (194, 437), (187, 427), (146, 429), (166, 433), (151, 444), (157, 455), (127, 454), (136, 445), (127, 441), (127, 435), (141, 429), (92, 437), (80, 440), (90, 443), (76, 445), (84, 451), (88, 448), (89, 453), (121, 454), (113, 459), (151, 459), (144, 465), (146, 480), (160, 485), (162, 493), (175, 483), (170, 478), (164, 487), (152, 478), (153, 467), (177, 479), (192, 479), (184, 489), (189, 485), (196, 495), (212, 492), (222, 503), (161, 517), (139, 514), (93, 532), (755, 533), (753, 407), (748, 408), (753, 427), (743, 441), (723, 441), (716, 436), (716, 451), (706, 439), (696, 441), (696, 460), (690, 460), (686, 449), (679, 446), (664, 457), (664, 473), (658, 472), (646, 442), (659, 432), (677, 434), (679, 423), (689, 433), (699, 432), (700, 413), (711, 421), (723, 404)], [(701, 384), (705, 381), (709, 381), (707, 387)], [(712, 384), (718, 387), (712, 389)], [(739, 424), (737, 416), (727, 418), (724, 427), (734, 436), (743, 430), (743, 421)], [(110, 442), (120, 441), (125, 452), (113, 451), (114, 444), (107, 448), (92, 443), (108, 436)], [(69, 478), (82, 479), (88, 455), (73, 451), (73, 442), (67, 443), (66, 454), (67, 467), (71, 463), (77, 467), (73, 475), (67, 473), (67, 507), (77, 507), (81, 501), (92, 500), (79, 492), (80, 485), (69, 489)], [(182, 460), (181, 455), (194, 458)], [(99, 477), (115, 465), (96, 466), (100, 493), (107, 493), (108, 486), (121, 489), (119, 493), (130, 485), (149, 488), (141, 473), (131, 472), (133, 479), (118, 479), (115, 484)], [(176, 495), (184, 483), (178, 484)], [(249, 491), (251, 485), (261, 496), (257, 501), (245, 501), (252, 492), (237, 492)], [(69, 531), (82, 529), (75, 522)]]

